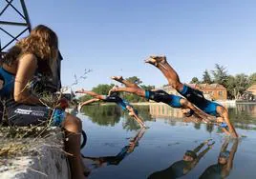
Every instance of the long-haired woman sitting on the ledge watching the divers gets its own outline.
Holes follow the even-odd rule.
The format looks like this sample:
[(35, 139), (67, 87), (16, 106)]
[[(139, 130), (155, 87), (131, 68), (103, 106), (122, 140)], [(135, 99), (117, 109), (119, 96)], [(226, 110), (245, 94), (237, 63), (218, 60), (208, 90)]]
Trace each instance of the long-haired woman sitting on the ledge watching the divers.
[[(18, 41), (5, 54), (0, 67), (1, 99), (6, 101), (9, 123), (14, 126), (30, 126), (47, 122), (53, 117), (53, 126), (65, 129), (68, 140), (65, 148), (72, 171), (72, 178), (85, 178), (80, 155), (81, 121), (61, 109), (50, 109), (46, 101), (34, 95), (28, 87), (35, 72), (44, 76), (53, 75), (53, 64), (57, 59), (58, 40), (53, 30), (39, 25), (31, 34)], [(57, 115), (56, 115), (57, 114)]]

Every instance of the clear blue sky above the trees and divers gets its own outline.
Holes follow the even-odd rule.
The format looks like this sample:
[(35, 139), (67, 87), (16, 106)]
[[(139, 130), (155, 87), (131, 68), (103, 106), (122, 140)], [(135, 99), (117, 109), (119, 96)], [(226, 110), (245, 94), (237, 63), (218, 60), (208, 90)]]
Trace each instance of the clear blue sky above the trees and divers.
[(150, 54), (165, 54), (183, 82), (201, 78), (216, 63), (230, 74), (256, 72), (253, 0), (27, 0), (26, 5), (33, 27), (44, 24), (58, 34), (64, 86), (74, 82), (74, 74), (93, 70), (74, 89), (114, 83), (112, 75), (166, 84), (159, 70), (143, 63)]

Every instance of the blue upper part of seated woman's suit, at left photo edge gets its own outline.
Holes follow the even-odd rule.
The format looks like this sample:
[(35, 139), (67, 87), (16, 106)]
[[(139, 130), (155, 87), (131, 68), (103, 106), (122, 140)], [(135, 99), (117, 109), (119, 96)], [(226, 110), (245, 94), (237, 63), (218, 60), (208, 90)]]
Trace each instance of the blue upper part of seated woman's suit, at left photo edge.
[(1, 97), (11, 97), (14, 89), (15, 75), (11, 72), (0, 68), (0, 79), (3, 81), (3, 88), (0, 89)]

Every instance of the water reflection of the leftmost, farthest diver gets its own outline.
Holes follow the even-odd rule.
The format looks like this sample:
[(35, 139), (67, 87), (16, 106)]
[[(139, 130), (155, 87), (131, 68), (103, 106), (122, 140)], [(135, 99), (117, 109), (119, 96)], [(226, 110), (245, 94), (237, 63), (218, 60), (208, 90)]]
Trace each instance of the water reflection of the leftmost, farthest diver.
[(125, 157), (134, 151), (139, 146), (139, 140), (142, 138), (146, 129), (139, 129), (139, 132), (134, 138), (130, 140), (129, 145), (120, 150), (116, 156), (103, 156), (103, 157), (88, 157), (83, 156), (84, 162), (91, 163), (91, 168), (97, 169), (104, 166), (118, 165)]

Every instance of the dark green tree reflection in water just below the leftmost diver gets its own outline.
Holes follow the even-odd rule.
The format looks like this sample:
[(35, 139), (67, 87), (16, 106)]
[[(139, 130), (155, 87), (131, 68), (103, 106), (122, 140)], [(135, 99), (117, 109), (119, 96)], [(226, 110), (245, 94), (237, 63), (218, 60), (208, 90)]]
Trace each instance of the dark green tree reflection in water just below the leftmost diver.
[(85, 106), (82, 112), (89, 116), (93, 123), (99, 126), (115, 126), (119, 122), (121, 116), (121, 109), (117, 106)]

